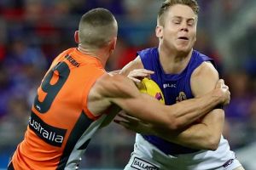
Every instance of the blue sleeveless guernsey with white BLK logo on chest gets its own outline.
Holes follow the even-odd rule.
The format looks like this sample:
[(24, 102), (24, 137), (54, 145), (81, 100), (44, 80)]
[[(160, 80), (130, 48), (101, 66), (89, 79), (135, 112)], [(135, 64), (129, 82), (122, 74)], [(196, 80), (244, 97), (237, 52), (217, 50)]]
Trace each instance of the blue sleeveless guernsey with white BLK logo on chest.
[[(141, 57), (144, 68), (154, 71), (151, 79), (161, 88), (165, 96), (166, 105), (173, 105), (177, 101), (194, 98), (190, 87), (191, 74), (204, 61), (211, 61), (214, 65), (213, 59), (193, 50), (189, 64), (180, 74), (166, 74), (160, 65), (158, 48), (147, 48), (137, 52), (137, 54)], [(143, 135), (143, 138), (148, 140), (149, 143), (154, 144), (166, 153), (166, 155), (186, 154), (198, 151), (168, 142), (153, 135)]]

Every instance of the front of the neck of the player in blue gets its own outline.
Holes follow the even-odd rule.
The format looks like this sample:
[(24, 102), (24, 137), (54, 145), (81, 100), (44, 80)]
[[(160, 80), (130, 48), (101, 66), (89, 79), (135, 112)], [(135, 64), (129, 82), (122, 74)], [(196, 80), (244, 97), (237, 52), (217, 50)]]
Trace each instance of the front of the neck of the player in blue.
[(181, 73), (189, 64), (193, 49), (189, 52), (177, 52), (175, 49), (159, 47), (160, 64), (166, 74)]

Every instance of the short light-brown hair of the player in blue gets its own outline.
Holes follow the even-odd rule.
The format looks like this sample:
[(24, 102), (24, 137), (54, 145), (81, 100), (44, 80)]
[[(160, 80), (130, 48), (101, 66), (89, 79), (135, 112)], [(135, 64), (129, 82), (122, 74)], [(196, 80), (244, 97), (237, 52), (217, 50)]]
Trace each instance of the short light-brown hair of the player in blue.
[(164, 24), (164, 16), (166, 14), (166, 11), (168, 10), (168, 8), (172, 7), (175, 4), (183, 4), (183, 5), (187, 5), (190, 8), (192, 8), (192, 10), (194, 11), (194, 13), (196, 15), (198, 15), (199, 13), (199, 5), (196, 2), (196, 0), (166, 0), (164, 3), (162, 3), (162, 6), (160, 7), (160, 10), (158, 12), (158, 21), (160, 23), (160, 25)]

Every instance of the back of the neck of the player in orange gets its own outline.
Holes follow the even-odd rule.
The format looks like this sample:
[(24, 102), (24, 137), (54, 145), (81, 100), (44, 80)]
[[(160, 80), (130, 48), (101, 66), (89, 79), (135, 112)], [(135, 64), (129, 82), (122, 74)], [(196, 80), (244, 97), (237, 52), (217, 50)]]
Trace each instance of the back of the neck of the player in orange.
[(79, 44), (78, 50), (82, 54), (90, 55), (91, 57), (98, 59), (102, 63), (102, 66), (105, 67), (108, 54), (103, 49), (84, 48), (81, 44)]

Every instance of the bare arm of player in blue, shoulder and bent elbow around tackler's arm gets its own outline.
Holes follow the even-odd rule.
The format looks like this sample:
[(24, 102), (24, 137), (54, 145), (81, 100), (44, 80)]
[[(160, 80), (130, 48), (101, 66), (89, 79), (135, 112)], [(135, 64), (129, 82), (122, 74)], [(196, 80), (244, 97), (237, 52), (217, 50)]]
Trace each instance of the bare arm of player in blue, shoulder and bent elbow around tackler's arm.
[[(191, 77), (191, 87), (196, 97), (206, 94), (218, 81), (218, 72), (209, 63), (201, 65)], [(216, 150), (224, 126), (224, 111), (215, 109), (181, 133), (166, 133), (152, 126), (152, 133), (163, 139), (195, 149)]]

